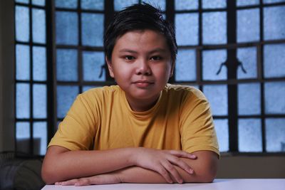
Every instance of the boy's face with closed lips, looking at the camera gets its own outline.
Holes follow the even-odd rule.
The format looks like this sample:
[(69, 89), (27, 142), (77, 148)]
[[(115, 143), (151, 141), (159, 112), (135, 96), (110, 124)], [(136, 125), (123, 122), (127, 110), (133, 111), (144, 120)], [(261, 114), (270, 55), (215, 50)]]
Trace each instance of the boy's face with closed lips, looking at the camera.
[(129, 31), (118, 38), (107, 63), (129, 102), (157, 100), (173, 73), (166, 39), (152, 30)]

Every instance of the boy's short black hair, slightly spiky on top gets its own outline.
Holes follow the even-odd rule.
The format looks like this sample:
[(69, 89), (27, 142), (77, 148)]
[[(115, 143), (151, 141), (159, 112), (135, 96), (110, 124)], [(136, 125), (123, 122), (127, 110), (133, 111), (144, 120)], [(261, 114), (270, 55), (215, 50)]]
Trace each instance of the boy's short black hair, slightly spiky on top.
[(172, 64), (177, 56), (177, 43), (172, 24), (163, 19), (160, 9), (150, 4), (133, 4), (115, 14), (104, 35), (104, 51), (111, 60), (115, 42), (128, 31), (150, 29), (162, 33), (170, 48)]

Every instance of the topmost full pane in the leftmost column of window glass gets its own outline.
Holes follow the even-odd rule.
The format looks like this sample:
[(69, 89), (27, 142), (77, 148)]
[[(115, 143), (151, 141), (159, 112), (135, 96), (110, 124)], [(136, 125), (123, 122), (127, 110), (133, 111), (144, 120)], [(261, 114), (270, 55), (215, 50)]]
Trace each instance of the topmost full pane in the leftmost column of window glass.
[(28, 7), (16, 6), (16, 40), (28, 42), (30, 40), (30, 20)]

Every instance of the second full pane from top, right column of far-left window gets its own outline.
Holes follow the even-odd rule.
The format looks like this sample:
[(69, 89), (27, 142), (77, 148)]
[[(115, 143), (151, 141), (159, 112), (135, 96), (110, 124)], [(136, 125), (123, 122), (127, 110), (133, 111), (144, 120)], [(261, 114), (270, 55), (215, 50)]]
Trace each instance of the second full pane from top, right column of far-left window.
[(46, 80), (46, 48), (33, 46), (33, 80)]

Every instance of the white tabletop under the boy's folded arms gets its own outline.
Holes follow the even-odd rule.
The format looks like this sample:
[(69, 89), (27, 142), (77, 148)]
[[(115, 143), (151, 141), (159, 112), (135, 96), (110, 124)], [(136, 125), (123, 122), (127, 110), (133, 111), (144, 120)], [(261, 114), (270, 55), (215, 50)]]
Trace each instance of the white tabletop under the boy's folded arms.
[(209, 184), (110, 184), (93, 186), (56, 186), (46, 185), (43, 190), (76, 189), (76, 190), (108, 190), (108, 189), (194, 189), (194, 190), (285, 190), (285, 179), (215, 179)]

